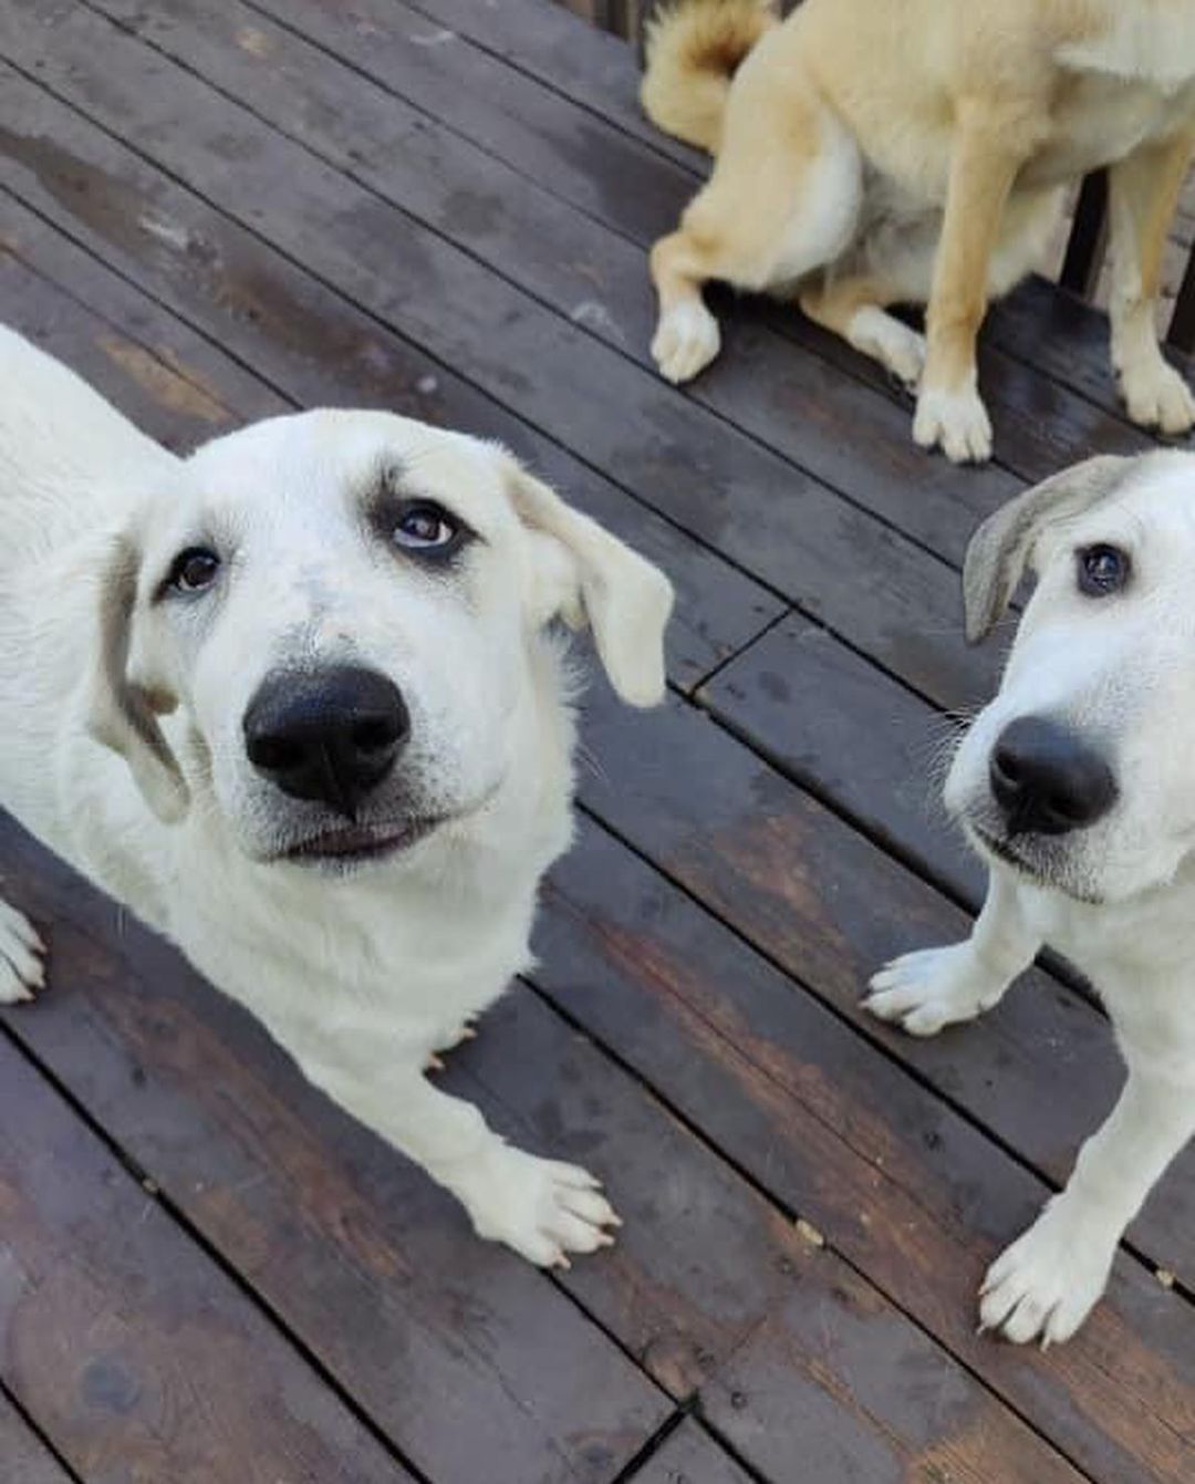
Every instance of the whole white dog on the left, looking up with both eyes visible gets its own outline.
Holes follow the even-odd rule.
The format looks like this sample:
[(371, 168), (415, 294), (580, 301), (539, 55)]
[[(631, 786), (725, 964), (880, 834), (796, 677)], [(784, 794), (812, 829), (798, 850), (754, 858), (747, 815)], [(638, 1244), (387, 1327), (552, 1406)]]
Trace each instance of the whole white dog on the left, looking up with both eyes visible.
[[(664, 690), (668, 580), (497, 447), (279, 417), (181, 462), (0, 329), (0, 803), (533, 1263), (597, 1181), (429, 1085), (570, 838), (557, 616)], [(0, 1000), (42, 984), (0, 902)]]

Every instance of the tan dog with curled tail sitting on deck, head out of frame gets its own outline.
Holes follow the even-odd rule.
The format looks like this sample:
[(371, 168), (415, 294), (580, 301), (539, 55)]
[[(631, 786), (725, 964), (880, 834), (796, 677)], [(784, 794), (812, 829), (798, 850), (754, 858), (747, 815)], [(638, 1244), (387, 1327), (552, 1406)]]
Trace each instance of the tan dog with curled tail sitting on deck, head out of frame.
[[(1195, 147), (1195, 0), (805, 0), (784, 22), (681, 0), (650, 27), (643, 104), (717, 156), (652, 249), (669, 381), (717, 355), (707, 279), (791, 294), (917, 386), (919, 444), (987, 459), (987, 300), (1038, 263), (1063, 188), (1110, 165), (1121, 392), (1134, 421), (1195, 421), (1153, 319)], [(925, 338), (895, 303), (928, 304)]]

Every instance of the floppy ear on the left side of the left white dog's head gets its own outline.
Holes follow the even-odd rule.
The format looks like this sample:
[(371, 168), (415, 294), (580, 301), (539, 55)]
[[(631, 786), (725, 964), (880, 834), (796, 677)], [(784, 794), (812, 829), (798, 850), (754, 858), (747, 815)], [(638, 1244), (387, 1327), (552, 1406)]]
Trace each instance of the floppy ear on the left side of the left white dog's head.
[(187, 812), (190, 792), (154, 715), (172, 709), (174, 700), (129, 680), (129, 631), (140, 565), (134, 539), (117, 536), (96, 592), (98, 626), (88, 683), (86, 727), (96, 742), (125, 758), (157, 818), (174, 824)]

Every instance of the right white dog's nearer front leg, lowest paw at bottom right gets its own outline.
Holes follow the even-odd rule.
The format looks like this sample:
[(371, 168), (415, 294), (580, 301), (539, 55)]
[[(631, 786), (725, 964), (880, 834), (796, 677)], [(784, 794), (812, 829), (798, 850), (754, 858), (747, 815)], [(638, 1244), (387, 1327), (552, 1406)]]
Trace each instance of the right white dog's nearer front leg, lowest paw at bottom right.
[(1107, 1285), (1124, 1229), (1195, 1134), (1195, 1080), (1174, 1082), (1130, 1057), (1128, 1082), (1075, 1172), (1029, 1230), (989, 1267), (984, 1330), (1042, 1347), (1069, 1340)]

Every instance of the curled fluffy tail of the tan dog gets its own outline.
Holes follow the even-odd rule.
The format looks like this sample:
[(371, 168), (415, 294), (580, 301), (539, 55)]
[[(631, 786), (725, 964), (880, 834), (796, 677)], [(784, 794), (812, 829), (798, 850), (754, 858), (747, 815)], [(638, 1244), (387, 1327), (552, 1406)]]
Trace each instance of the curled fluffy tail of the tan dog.
[(647, 25), (640, 101), (665, 134), (717, 154), (730, 79), (779, 22), (770, 0), (677, 0)]

